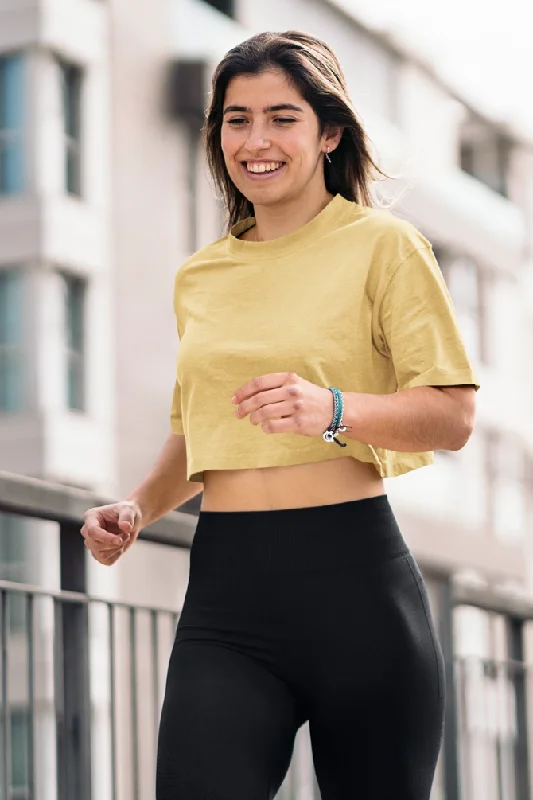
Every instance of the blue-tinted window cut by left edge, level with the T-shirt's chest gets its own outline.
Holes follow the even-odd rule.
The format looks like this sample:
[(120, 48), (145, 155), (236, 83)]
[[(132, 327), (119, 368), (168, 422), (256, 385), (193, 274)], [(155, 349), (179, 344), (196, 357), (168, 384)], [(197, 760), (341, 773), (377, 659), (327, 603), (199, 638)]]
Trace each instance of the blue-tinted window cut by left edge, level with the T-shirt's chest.
[(0, 412), (23, 407), (22, 279), (0, 270)]

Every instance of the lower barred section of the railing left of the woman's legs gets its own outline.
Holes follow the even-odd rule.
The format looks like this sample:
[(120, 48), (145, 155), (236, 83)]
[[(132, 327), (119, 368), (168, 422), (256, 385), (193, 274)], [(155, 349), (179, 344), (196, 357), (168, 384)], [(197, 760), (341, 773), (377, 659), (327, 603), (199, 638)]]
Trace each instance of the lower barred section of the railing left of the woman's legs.
[(2, 800), (152, 796), (178, 614), (0, 581), (0, 619)]

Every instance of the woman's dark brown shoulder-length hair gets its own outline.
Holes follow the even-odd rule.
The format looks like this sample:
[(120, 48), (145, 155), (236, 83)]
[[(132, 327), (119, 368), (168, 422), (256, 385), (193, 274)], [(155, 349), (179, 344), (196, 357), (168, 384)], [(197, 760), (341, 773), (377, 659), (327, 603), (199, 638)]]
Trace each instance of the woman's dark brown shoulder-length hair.
[(253, 216), (253, 205), (231, 180), (220, 144), (224, 98), (237, 75), (282, 70), (318, 117), (320, 134), (343, 128), (325, 169), (326, 188), (361, 205), (372, 205), (370, 184), (386, 177), (375, 164), (367, 135), (352, 105), (336, 55), (325, 42), (299, 31), (259, 33), (232, 48), (213, 75), (211, 102), (203, 127), (207, 161), (228, 211), (228, 227)]

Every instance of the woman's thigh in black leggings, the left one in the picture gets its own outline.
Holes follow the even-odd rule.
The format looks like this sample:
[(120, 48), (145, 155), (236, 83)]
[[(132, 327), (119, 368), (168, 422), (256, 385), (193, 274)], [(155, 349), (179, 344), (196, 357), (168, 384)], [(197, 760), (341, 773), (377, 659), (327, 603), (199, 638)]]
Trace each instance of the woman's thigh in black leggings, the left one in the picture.
[(270, 800), (299, 727), (285, 684), (210, 642), (176, 642), (157, 755), (157, 800)]

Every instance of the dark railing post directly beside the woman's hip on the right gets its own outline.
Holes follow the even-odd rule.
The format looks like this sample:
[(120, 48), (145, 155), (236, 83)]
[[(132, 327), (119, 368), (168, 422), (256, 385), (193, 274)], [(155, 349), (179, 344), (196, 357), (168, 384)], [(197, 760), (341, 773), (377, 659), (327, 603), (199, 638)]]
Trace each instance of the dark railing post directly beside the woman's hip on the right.
[(459, 780), (459, 731), (457, 724), (457, 688), (453, 630), (454, 596), (451, 578), (439, 583), (439, 640), (446, 665), (446, 710), (443, 742), (444, 785), (446, 800), (461, 800)]

